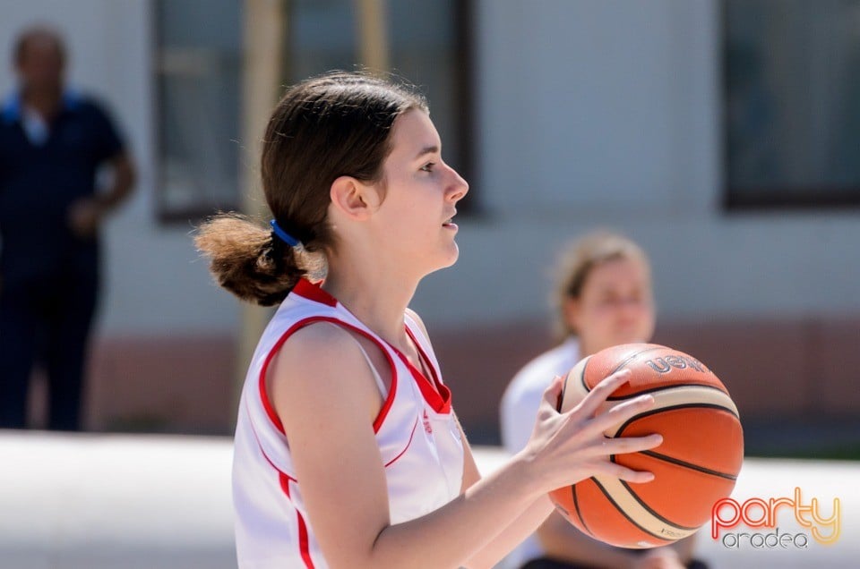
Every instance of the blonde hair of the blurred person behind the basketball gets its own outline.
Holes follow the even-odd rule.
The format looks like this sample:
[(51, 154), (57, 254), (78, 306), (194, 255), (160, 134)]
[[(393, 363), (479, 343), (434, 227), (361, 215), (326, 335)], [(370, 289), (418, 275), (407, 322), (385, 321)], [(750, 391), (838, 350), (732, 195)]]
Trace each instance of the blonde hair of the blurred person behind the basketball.
[(555, 335), (559, 341), (577, 331), (564, 318), (564, 304), (577, 299), (591, 270), (618, 259), (636, 259), (649, 268), (648, 255), (622, 234), (601, 230), (568, 243), (555, 263)]

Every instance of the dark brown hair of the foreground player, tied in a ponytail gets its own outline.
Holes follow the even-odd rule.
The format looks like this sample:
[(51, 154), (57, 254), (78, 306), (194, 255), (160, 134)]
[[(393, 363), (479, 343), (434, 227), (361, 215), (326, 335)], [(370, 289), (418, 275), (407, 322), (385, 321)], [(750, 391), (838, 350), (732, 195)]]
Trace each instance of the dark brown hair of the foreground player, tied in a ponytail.
[(382, 178), (395, 119), (427, 110), (401, 84), (356, 72), (332, 72), (287, 90), (262, 141), (262, 190), (272, 215), (302, 244), (290, 247), (236, 214), (206, 222), (194, 244), (211, 259), (219, 285), (240, 299), (277, 304), (303, 276), (322, 277), (334, 246), (328, 223), (331, 183), (343, 175)]

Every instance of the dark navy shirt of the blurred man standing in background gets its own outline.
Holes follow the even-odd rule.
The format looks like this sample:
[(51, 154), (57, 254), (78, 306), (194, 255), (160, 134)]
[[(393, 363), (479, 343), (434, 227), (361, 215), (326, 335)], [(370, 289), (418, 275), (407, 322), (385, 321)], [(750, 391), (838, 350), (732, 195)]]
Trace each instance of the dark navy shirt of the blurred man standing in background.
[(107, 114), (93, 101), (66, 94), (48, 123), (47, 139), (31, 142), (20, 98), (0, 111), (0, 270), (50, 271), (78, 252), (96, 249), (68, 226), (69, 207), (96, 191), (96, 173), (124, 149)]

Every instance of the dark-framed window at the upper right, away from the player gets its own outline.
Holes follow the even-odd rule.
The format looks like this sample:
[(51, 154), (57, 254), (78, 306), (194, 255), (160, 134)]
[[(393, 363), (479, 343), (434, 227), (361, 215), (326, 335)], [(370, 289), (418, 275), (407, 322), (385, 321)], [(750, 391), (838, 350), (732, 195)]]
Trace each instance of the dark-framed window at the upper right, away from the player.
[(728, 208), (860, 205), (860, 0), (726, 0)]

